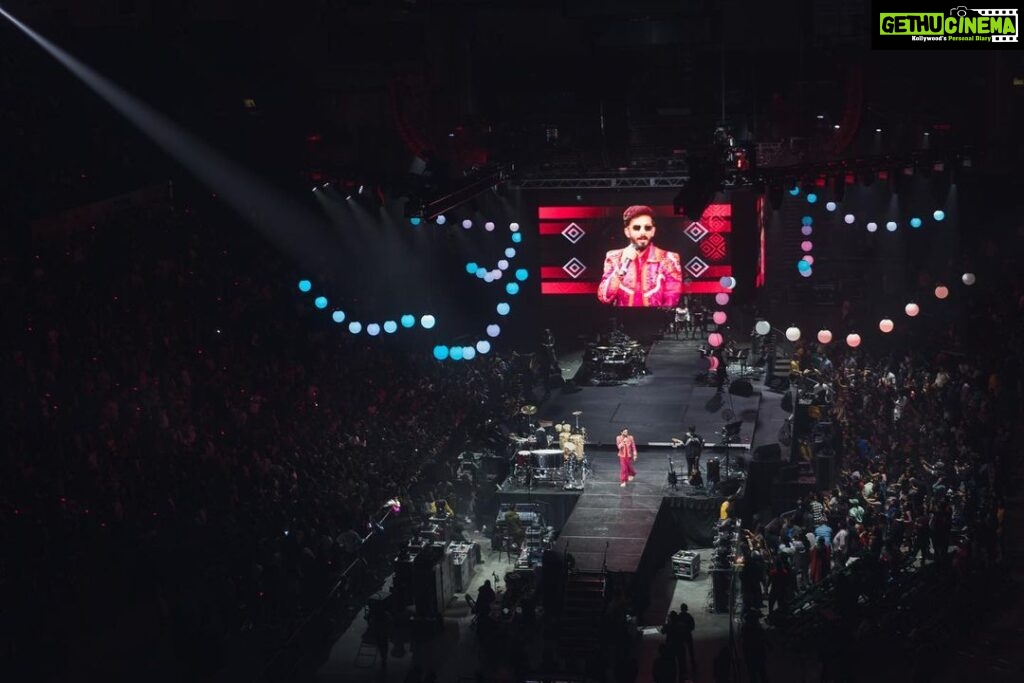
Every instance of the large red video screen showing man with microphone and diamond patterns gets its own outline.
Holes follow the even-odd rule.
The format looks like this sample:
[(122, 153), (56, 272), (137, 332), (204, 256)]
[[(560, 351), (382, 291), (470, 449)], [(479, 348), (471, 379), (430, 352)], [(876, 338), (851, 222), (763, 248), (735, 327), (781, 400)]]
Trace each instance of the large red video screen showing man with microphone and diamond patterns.
[(682, 297), (729, 290), (732, 205), (717, 202), (692, 220), (660, 203), (541, 203), (541, 292), (590, 297), (612, 307), (675, 307)]

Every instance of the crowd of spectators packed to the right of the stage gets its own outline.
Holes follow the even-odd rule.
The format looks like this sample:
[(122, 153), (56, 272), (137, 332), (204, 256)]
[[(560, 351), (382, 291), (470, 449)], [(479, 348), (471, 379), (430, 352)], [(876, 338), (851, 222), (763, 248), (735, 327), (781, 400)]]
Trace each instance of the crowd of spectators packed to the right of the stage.
[[(869, 614), (879, 633), (883, 613), (912, 614), (920, 626), (929, 611), (970, 604), (963, 587), (978, 588), (979, 573), (1002, 565), (1024, 423), (1024, 283), (1012, 261), (985, 260), (988, 282), (965, 286), (953, 304), (967, 314), (934, 321), (934, 334), (903, 347), (910, 350), (798, 347), (800, 370), (821, 389), (820, 421), (830, 425), (806, 443), (837, 463), (836, 481), (750, 531), (750, 620), (767, 609), (769, 623), (795, 629), (805, 644), (845, 655)], [(927, 601), (925, 574), (943, 587)], [(912, 608), (902, 602), (908, 595), (919, 601)], [(900, 628), (899, 642), (923, 631)]]

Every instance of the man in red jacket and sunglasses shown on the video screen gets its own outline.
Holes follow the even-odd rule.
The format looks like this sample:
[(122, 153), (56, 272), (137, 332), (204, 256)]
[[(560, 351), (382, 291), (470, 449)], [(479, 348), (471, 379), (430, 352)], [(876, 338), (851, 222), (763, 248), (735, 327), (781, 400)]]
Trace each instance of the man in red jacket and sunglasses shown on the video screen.
[(649, 206), (631, 206), (623, 212), (623, 231), (630, 244), (604, 257), (604, 274), (597, 288), (602, 303), (667, 307), (679, 303), (682, 262), (676, 252), (652, 244), (656, 230), (654, 210)]

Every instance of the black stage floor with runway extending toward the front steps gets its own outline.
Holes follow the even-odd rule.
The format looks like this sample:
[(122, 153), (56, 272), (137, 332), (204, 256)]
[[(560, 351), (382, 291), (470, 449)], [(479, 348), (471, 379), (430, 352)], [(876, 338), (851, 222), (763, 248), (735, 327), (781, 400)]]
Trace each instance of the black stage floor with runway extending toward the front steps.
[[(672, 458), (680, 473), (685, 471), (686, 460), (682, 451), (652, 444), (681, 437), (689, 425), (695, 426), (709, 443), (717, 442), (718, 430), (728, 421), (724, 415), (728, 410), (734, 420), (742, 421), (739, 443), (750, 446), (758, 423), (761, 394), (744, 398), (696, 386), (694, 377), (705, 364), (696, 346), (696, 342), (690, 341), (659, 341), (647, 357), (648, 376), (623, 386), (584, 387), (575, 393), (558, 393), (541, 407), (539, 417), (555, 422), (571, 421), (572, 411), (584, 412), (580, 425), (587, 428), (592, 468), (585, 490), (579, 495), (579, 492), (569, 494), (541, 486), (527, 493), (506, 482), (500, 496), (502, 500), (517, 502), (531, 496), (532, 500), (552, 507), (552, 517), (564, 518), (570, 512), (559, 533), (557, 548), (567, 549), (580, 569), (599, 570), (606, 562), (609, 571), (637, 571), (654, 520), (666, 502), (693, 508), (707, 518), (717, 511), (720, 496), (682, 483), (678, 490), (668, 485), (669, 459)], [(636, 479), (625, 487), (620, 486), (614, 450), (615, 436), (623, 427), (630, 428), (639, 452)], [(708, 460), (721, 461), (724, 453), (722, 449), (706, 449), (701, 471), (707, 471)], [(746, 455), (744, 449), (730, 453)], [(575, 506), (568, 507), (577, 496)], [(558, 525), (557, 519), (549, 522)]]

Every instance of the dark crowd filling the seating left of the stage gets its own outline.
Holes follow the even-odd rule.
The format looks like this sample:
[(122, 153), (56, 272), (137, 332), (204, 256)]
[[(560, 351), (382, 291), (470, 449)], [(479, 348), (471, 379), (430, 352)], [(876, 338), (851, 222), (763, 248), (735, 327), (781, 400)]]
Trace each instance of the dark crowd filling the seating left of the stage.
[(455, 480), (453, 437), (518, 404), (497, 354), (342, 334), (258, 236), (197, 213), (135, 210), (0, 271), (0, 657), (34, 680), (108, 672), (113, 643), (198, 678), (234, 634), (287, 635), (388, 500), (426, 498), (427, 467)]

